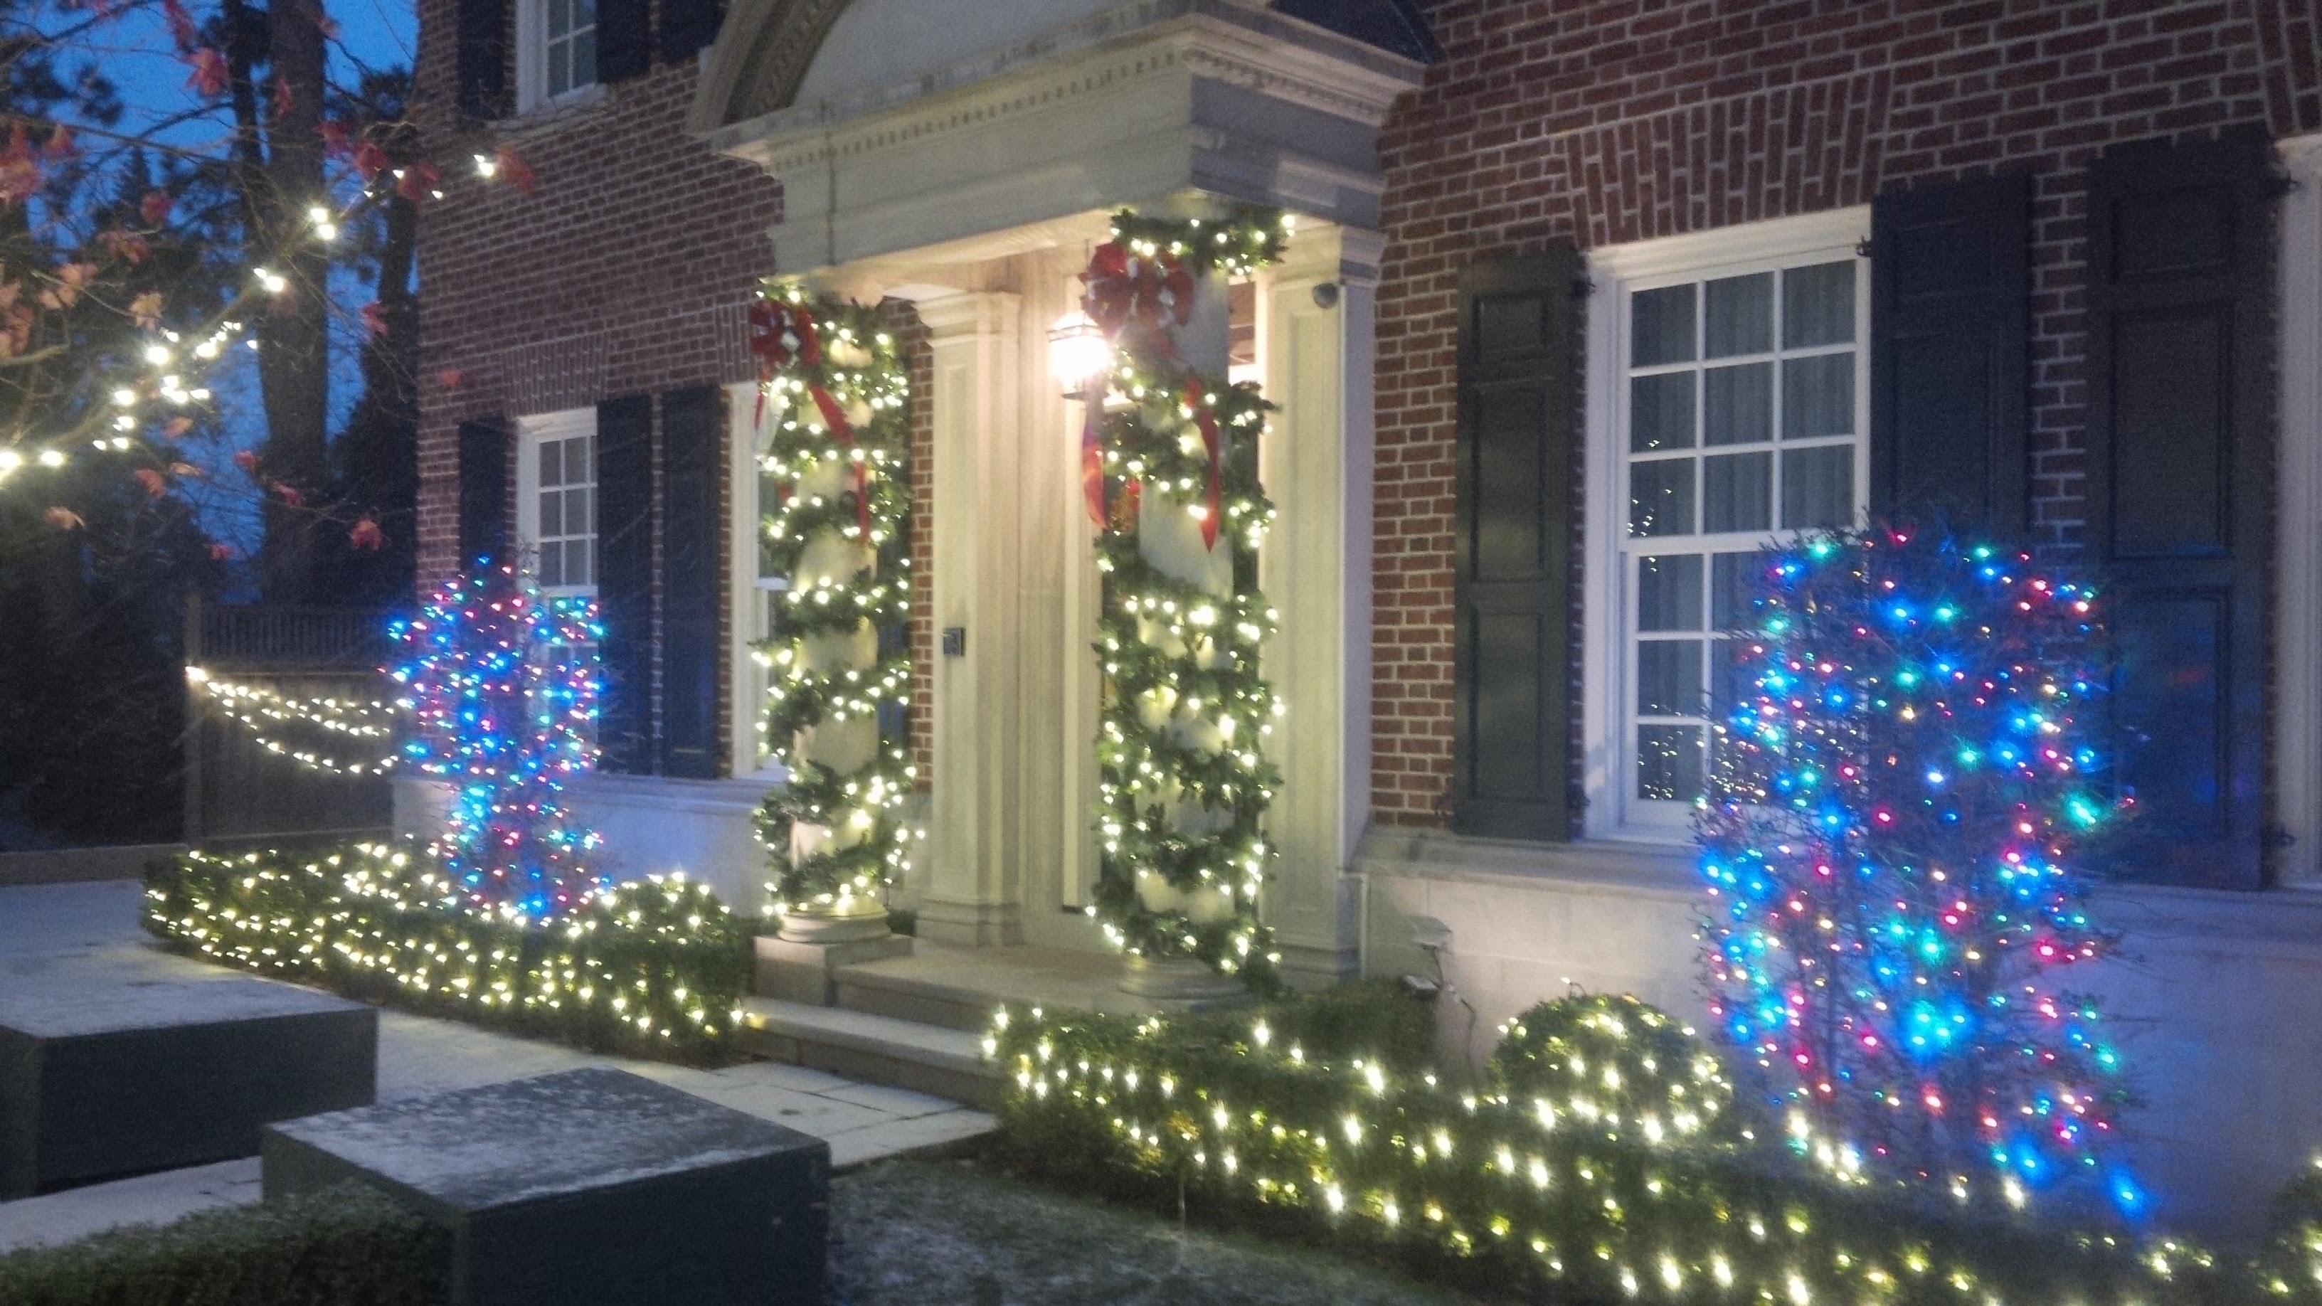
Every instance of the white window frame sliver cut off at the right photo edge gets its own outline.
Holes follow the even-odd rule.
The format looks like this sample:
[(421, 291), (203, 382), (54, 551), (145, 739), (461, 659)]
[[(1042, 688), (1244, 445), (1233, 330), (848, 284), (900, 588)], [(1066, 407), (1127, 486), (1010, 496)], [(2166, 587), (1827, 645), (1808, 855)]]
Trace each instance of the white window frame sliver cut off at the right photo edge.
[(2280, 530), (2276, 532), (2276, 816), (2283, 883), (2322, 883), (2322, 135), (2276, 146), (2280, 211)]

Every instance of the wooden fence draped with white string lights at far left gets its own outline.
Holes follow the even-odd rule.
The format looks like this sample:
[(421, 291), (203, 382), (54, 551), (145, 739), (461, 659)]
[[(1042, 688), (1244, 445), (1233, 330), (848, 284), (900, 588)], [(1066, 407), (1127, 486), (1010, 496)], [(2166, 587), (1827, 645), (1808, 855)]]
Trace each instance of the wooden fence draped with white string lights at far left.
[[(392, 739), (337, 739), (258, 716), (235, 720), (214, 686), (283, 699), (385, 702), (388, 613), (339, 607), (207, 607), (186, 611), (186, 841), (260, 844), (279, 837), (383, 834), (395, 816), (385, 774), (369, 767)], [(274, 739), (283, 751), (267, 748)], [(360, 774), (290, 758), (313, 751), (365, 762)]]

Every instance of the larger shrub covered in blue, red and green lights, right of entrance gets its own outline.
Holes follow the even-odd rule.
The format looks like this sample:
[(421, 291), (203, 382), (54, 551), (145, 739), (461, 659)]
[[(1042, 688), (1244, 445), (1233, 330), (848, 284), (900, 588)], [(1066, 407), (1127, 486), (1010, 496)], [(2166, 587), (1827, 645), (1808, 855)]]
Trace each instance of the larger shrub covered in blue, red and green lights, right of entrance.
[(1700, 816), (1718, 1027), (1837, 1169), (2011, 1206), (2094, 1178), (2139, 1213), (2099, 1157), (2120, 1060), (2050, 978), (2113, 941), (2078, 864), (2113, 816), (2094, 590), (1902, 532), (1755, 572)]

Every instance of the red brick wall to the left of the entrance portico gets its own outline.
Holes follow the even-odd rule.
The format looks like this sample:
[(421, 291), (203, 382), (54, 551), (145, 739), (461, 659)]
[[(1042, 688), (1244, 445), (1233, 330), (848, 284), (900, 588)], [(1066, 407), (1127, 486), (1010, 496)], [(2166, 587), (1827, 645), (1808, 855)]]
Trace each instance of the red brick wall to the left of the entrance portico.
[[(444, 198), (420, 209), (423, 586), (455, 565), (460, 421), (752, 374), (743, 311), (773, 272), (766, 232), (780, 216), (764, 172), (685, 132), (694, 60), (555, 114), (462, 125), (453, 12), (420, 5), (413, 105), (444, 172)], [(502, 144), (536, 174), (534, 195), (476, 177), (474, 156)]]

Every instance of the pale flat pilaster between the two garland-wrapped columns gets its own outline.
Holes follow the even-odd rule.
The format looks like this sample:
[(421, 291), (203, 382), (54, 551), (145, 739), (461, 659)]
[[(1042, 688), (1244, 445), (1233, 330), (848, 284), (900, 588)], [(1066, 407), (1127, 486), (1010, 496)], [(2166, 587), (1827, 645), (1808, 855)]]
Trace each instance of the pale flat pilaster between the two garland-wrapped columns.
[[(920, 300), (933, 351), (936, 425), (933, 623), (936, 720), (929, 881), (920, 937), (938, 943), (1015, 943), (1022, 902), (1010, 785), (1017, 774), (1017, 660), (1022, 613), (1017, 295), (971, 290)], [(945, 653), (943, 632), (966, 637)]]

